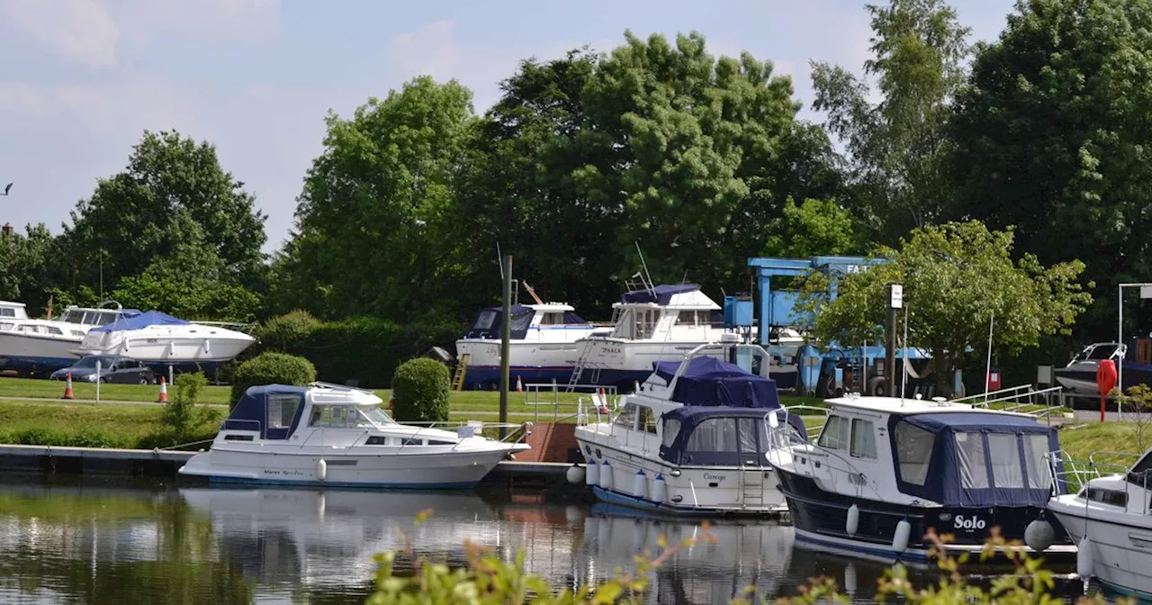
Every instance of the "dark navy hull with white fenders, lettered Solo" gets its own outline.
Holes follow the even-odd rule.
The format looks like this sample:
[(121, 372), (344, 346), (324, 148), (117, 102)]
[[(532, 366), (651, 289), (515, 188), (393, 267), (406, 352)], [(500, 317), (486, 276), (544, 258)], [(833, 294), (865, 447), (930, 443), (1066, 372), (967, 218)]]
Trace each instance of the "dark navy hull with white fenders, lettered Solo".
[[(927, 561), (933, 558), (933, 544), (924, 539), (930, 531), (953, 536), (946, 545), (948, 551), (971, 552), (984, 546), (993, 528), (1000, 528), (1000, 535), (1009, 542), (1022, 542), (1028, 524), (1045, 516), (1058, 536), (1056, 545), (1045, 555), (1075, 552), (1063, 527), (1052, 515), (1044, 515), (1041, 507), (908, 506), (829, 492), (812, 477), (779, 468), (778, 472), (796, 538), (838, 551), (887, 561)], [(859, 522), (856, 534), (849, 535), (848, 511), (852, 505), (859, 509)], [(907, 547), (899, 549), (893, 536), (902, 520), (911, 523), (911, 531)]]

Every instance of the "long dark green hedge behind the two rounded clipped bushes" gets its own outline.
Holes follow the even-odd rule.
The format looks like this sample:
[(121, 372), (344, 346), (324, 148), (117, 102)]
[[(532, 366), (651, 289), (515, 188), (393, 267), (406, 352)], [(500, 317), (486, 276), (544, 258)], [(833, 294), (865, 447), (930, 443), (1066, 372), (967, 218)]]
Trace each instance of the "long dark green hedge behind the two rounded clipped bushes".
[[(286, 323), (286, 316), (279, 316), (268, 319), (266, 325)], [(399, 325), (359, 317), (316, 323), (306, 336), (300, 336), (295, 330), (308, 320), (297, 316), (291, 324), (293, 338), (278, 336), (268, 341), (262, 338), (259, 346), (253, 348), (305, 357), (316, 365), (320, 380), (371, 388), (391, 386), (392, 376), (402, 362), (424, 355), (434, 346), (455, 354), (456, 339), (468, 327), (458, 322), (423, 320)], [(276, 327), (278, 335), (286, 332), (289, 331)], [(263, 330), (258, 332), (263, 333)]]

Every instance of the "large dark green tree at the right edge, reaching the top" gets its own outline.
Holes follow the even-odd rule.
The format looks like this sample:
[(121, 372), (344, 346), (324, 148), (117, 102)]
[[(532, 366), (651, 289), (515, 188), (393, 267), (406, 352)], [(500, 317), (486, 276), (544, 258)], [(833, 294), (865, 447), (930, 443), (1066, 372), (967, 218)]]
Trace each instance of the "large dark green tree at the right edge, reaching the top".
[(1149, 0), (1017, 3), (978, 47), (952, 129), (957, 215), (1015, 225), (1043, 263), (1082, 258), (1101, 331), (1115, 326), (1114, 285), (1152, 278), (1150, 22)]

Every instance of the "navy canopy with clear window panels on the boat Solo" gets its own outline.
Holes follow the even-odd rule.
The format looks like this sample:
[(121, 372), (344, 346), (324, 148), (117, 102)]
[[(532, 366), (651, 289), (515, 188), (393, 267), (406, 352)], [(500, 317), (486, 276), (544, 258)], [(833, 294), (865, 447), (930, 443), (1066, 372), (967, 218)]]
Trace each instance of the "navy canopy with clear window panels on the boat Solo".
[[(1047, 505), (1052, 472), (1045, 454), (1059, 452), (1060, 441), (1055, 429), (1034, 418), (986, 411), (894, 414), (888, 429), (896, 484), (905, 494), (943, 506)], [(1056, 477), (1063, 477), (1056, 460)], [(1067, 485), (1058, 481), (1056, 493), (1064, 493)]]

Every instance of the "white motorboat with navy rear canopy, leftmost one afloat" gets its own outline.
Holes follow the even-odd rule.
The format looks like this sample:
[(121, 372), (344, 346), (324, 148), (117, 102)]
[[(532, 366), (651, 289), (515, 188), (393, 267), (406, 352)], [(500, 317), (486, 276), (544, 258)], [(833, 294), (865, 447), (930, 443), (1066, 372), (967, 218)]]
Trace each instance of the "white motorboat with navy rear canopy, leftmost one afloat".
[(249, 387), (211, 449), (179, 472), (260, 484), (471, 487), (529, 448), (477, 434), (488, 426), (482, 423), (455, 431), (400, 424), (380, 403), (370, 391), (325, 383)]

